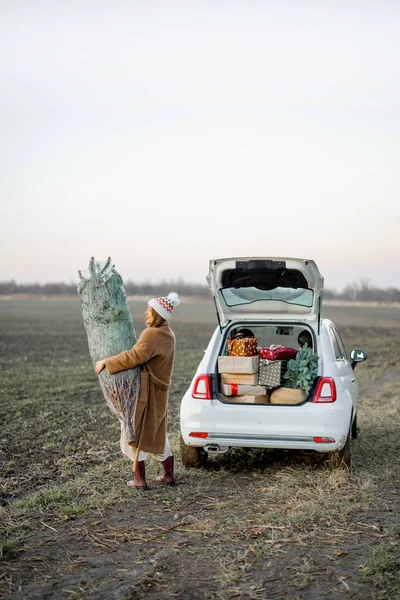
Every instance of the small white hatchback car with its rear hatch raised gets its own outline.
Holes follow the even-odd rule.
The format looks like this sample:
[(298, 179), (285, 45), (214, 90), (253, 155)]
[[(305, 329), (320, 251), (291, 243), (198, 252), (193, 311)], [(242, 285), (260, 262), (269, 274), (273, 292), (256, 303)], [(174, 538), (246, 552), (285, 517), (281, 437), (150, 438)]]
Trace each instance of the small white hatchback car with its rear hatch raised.
[[(281, 448), (328, 453), (334, 467), (350, 465), (357, 434), (358, 388), (354, 368), (332, 321), (321, 317), (323, 277), (312, 260), (221, 258), (210, 261), (207, 282), (219, 324), (181, 401), (180, 455), (187, 467), (205, 464), (209, 453), (231, 448)], [(249, 404), (222, 393), (218, 357), (238, 329), (250, 329), (258, 348), (299, 348), (309, 337), (318, 355), (312, 389), (298, 404)], [(284, 381), (282, 381), (284, 383)], [(273, 390), (265, 388), (265, 393)]]

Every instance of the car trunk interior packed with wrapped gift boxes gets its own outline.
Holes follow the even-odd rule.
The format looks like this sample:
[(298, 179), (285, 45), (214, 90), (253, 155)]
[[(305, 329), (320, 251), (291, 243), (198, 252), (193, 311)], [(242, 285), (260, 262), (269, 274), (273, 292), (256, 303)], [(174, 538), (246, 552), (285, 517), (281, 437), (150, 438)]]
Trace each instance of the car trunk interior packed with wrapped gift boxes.
[[(253, 359), (242, 360), (244, 358), (241, 354), (243, 344), (236, 345), (235, 348), (230, 346), (230, 340), (240, 333), (243, 333), (247, 339), (256, 338), (255, 342), (248, 342), (244, 350), (245, 356), (249, 353), (254, 355), (255, 352)], [(251, 344), (252, 348), (249, 349)], [(288, 360), (294, 358), (293, 354), (303, 348), (304, 344), (307, 344), (314, 353), (316, 352), (313, 331), (304, 323), (236, 322), (227, 331), (218, 358), (217, 391), (219, 400), (229, 404), (249, 405), (293, 405), (306, 402), (308, 397), (306, 394), (301, 393), (300, 390), (294, 391), (284, 387), (286, 383), (284, 374), (287, 371)], [(254, 349), (255, 345), (256, 350)], [(287, 357), (286, 351), (283, 351), (282, 348), (292, 349), (292, 356)], [(269, 360), (264, 358), (265, 349), (274, 352), (274, 356), (270, 356), (270, 352), (267, 353), (270, 356)], [(280, 353), (279, 356), (275, 357), (275, 352)], [(240, 360), (231, 360), (232, 353), (233, 355), (236, 353), (236, 357)]]

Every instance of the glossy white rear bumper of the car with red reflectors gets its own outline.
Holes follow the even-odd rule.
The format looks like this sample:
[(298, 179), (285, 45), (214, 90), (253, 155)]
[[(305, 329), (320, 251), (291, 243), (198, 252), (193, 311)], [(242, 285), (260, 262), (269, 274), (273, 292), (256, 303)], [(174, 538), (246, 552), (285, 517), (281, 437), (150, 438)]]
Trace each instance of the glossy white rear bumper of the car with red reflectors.
[[(301, 406), (232, 406), (218, 400), (191, 400), (181, 405), (180, 425), (183, 441), (190, 446), (332, 452), (346, 442), (351, 412), (350, 403), (340, 400)], [(314, 438), (334, 441), (316, 442)]]

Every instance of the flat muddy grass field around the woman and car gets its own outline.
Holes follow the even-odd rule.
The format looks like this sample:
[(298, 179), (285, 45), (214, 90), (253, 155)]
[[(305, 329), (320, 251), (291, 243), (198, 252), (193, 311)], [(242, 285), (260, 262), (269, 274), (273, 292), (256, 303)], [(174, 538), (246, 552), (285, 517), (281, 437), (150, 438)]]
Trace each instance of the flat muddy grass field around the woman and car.
[[(130, 306), (139, 333), (146, 303)], [(179, 402), (216, 326), (211, 303), (182, 303), (169, 410), (177, 486), (141, 493), (126, 486), (79, 300), (0, 301), (0, 597), (400, 598), (400, 311), (324, 312), (348, 350), (369, 354), (356, 370), (350, 472), (278, 451), (182, 467)]]

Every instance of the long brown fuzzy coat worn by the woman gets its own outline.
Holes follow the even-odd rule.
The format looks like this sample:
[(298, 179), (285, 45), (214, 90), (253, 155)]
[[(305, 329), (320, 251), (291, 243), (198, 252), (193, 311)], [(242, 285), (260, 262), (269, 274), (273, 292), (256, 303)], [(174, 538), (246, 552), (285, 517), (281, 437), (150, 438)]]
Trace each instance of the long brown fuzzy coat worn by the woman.
[(141, 365), (135, 432), (140, 450), (161, 454), (167, 435), (168, 390), (175, 357), (175, 335), (167, 322), (148, 327), (131, 350), (105, 359), (109, 373)]

